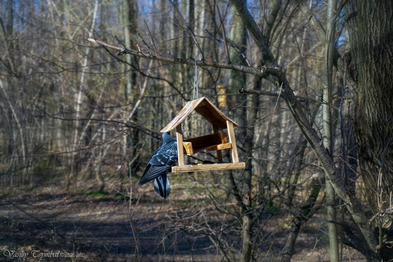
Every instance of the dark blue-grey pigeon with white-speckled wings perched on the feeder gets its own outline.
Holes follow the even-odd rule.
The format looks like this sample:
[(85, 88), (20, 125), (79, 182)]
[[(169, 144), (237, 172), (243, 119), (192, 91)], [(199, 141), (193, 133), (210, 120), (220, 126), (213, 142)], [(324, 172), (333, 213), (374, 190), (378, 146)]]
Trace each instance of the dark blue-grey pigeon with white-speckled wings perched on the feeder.
[(154, 191), (163, 198), (168, 198), (170, 194), (168, 170), (176, 164), (177, 143), (176, 139), (168, 133), (163, 133), (163, 145), (160, 146), (151, 157), (147, 167), (139, 180), (139, 185), (146, 184), (153, 179)]

